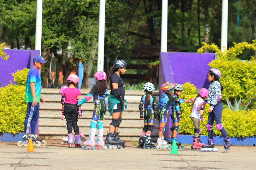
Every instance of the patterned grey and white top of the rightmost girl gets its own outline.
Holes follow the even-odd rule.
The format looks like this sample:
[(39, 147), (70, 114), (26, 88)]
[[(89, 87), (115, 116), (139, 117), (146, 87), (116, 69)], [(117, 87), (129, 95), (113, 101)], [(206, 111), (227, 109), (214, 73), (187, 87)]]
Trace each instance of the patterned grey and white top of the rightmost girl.
[(209, 103), (212, 107), (214, 107), (218, 101), (221, 99), (221, 84), (218, 81), (215, 81), (210, 84), (209, 88), (209, 96), (206, 99), (207, 103)]

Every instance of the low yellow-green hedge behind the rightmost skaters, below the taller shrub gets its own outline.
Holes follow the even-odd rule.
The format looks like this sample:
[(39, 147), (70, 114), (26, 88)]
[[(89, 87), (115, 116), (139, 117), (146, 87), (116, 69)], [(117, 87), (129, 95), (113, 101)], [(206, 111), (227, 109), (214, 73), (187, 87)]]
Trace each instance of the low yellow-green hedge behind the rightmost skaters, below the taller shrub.
[[(189, 99), (191, 97), (196, 97), (196, 88), (190, 83), (185, 83), (183, 85), (184, 92), (180, 98)], [(204, 121), (201, 122), (202, 132), (201, 135), (208, 135), (208, 131), (206, 128), (207, 120), (208, 120), (208, 108), (210, 105), (206, 104), (206, 108), (204, 109)], [(194, 134), (194, 125), (192, 120), (190, 119), (191, 115), (191, 104), (182, 103), (181, 104), (181, 113), (182, 120), (180, 121), (180, 133), (183, 134)], [(256, 127), (255, 127), (255, 117), (256, 110), (247, 110), (247, 111), (230, 111), (229, 108), (223, 109), (222, 112), (222, 124), (227, 131), (227, 134), (232, 137), (240, 137), (243, 138), (245, 136), (255, 136), (256, 135)], [(221, 132), (216, 128), (214, 123), (214, 135), (221, 135)]]

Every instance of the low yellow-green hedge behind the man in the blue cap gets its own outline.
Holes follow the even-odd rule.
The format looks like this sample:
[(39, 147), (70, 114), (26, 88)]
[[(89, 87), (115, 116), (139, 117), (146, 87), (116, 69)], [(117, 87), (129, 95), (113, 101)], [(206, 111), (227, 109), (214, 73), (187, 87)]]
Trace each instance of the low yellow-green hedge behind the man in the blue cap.
[(24, 120), (27, 104), (25, 102), (26, 86), (13, 85), (0, 90), (0, 132), (24, 132)]

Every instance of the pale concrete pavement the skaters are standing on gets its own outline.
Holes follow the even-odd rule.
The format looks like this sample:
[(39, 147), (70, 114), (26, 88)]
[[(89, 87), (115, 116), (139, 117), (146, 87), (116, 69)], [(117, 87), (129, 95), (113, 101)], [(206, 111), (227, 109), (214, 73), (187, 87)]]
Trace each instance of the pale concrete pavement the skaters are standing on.
[(107, 150), (83, 150), (68, 148), (50, 141), (45, 147), (26, 147), (16, 143), (0, 142), (0, 169), (256, 169), (256, 147), (232, 146), (223, 153), (200, 152), (185, 146), (178, 155), (170, 150), (138, 149), (131, 143), (126, 148)]

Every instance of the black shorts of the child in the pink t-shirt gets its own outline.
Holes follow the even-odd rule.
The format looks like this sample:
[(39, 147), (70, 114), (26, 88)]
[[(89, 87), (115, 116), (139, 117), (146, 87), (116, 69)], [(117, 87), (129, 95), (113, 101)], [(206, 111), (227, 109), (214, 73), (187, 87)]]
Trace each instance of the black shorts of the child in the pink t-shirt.
[(64, 116), (67, 122), (78, 121), (78, 108), (76, 104), (66, 103), (64, 106)]

